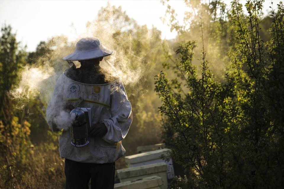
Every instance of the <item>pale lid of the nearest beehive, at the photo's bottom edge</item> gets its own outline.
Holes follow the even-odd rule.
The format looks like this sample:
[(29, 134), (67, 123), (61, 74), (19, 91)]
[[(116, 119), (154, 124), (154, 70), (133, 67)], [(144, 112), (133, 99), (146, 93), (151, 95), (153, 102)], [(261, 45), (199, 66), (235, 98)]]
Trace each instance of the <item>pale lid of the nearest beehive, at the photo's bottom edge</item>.
[(152, 176), (152, 177), (145, 177), (143, 179), (137, 179), (127, 182), (121, 182), (114, 185), (115, 189), (147, 189), (147, 188), (154, 188), (163, 185), (163, 180), (161, 177)]

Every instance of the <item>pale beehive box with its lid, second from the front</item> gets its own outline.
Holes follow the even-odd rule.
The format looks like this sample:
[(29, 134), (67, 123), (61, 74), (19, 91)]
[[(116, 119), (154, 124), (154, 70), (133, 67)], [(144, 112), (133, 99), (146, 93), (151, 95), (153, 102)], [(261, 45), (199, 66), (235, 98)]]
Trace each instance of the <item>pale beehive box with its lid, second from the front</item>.
[(117, 176), (120, 179), (120, 182), (126, 182), (131, 180), (137, 180), (144, 177), (158, 176), (163, 180), (162, 189), (167, 189), (167, 164), (155, 163), (149, 165), (143, 165), (138, 167), (131, 167), (127, 169), (117, 170)]

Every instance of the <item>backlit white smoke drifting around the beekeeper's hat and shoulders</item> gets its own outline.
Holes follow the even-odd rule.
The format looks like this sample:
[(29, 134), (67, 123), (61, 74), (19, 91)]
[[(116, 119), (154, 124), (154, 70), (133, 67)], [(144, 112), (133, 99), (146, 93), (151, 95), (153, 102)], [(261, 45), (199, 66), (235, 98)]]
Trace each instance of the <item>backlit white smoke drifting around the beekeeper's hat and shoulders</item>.
[[(141, 63), (145, 52), (137, 54), (132, 49), (133, 30), (136, 22), (127, 17), (121, 11), (108, 4), (102, 8), (96, 20), (88, 22), (85, 33), (79, 34), (74, 41), (68, 41), (65, 36), (54, 37), (46, 45), (49, 51), (40, 58), (23, 67), (20, 72), (20, 82), (14, 89), (9, 91), (9, 95), (17, 101), (17, 108), (23, 109), (31, 100), (39, 98), (43, 103), (42, 110), (45, 112), (51, 99), (55, 84), (68, 68), (66, 61), (62, 57), (72, 53), (75, 50), (76, 42), (84, 37), (99, 38), (106, 48), (114, 51), (114, 54), (105, 57), (100, 66), (108, 70), (106, 79), (111, 77), (120, 77), (125, 85), (135, 85), (143, 75)], [(151, 41), (149, 31), (135, 36), (135, 40), (142, 45), (148, 45)], [(80, 67), (80, 65), (76, 65)], [(56, 94), (55, 94), (56, 95)], [(53, 121), (57, 125), (70, 125), (70, 118), (67, 112), (62, 111), (64, 104), (56, 104), (59, 115)]]

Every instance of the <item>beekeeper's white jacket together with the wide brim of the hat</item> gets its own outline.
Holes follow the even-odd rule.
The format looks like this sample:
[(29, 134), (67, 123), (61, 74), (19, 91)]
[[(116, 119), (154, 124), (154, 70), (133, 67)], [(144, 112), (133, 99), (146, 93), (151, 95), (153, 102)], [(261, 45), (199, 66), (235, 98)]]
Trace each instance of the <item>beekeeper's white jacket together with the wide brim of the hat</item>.
[[(101, 57), (112, 54), (112, 51), (101, 46), (99, 50), (104, 53)], [(76, 51), (78, 52), (75, 51), (64, 59), (78, 60), (84, 52), (84, 57), (88, 58), (90, 51), (82, 48), (80, 49), (80, 44), (78, 46), (77, 43)], [(94, 51), (98, 53), (97, 49)], [(100, 55), (96, 55), (98, 56)], [(121, 140), (125, 138), (132, 122), (131, 104), (121, 80), (117, 79), (105, 84), (85, 84), (70, 79), (64, 72), (57, 80), (46, 110), (47, 122), (51, 130), (58, 130), (53, 123), (56, 123), (56, 119), (61, 115), (63, 105), (75, 106), (78, 101), (80, 101), (80, 107), (91, 108), (92, 122), (103, 122), (107, 127), (107, 133), (102, 138), (90, 137), (90, 143), (85, 147), (74, 147), (70, 143), (70, 130), (65, 128), (59, 137), (60, 156), (85, 163), (103, 164), (116, 161), (125, 153)]]

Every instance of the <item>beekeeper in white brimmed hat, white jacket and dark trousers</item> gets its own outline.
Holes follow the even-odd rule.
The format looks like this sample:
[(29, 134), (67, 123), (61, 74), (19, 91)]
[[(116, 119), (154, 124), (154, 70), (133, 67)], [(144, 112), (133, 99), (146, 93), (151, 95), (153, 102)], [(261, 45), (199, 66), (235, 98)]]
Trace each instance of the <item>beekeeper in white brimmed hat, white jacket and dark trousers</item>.
[[(120, 78), (106, 77), (99, 66), (112, 53), (98, 38), (88, 37), (63, 58), (71, 68), (57, 80), (46, 115), (52, 131), (63, 128), (59, 153), (65, 158), (66, 189), (88, 188), (90, 179), (92, 188), (114, 188), (114, 162), (125, 154), (121, 140), (128, 133), (132, 112)], [(79, 68), (72, 62), (76, 60)], [(68, 115), (77, 106), (91, 108), (90, 143), (84, 147), (70, 143)]]

